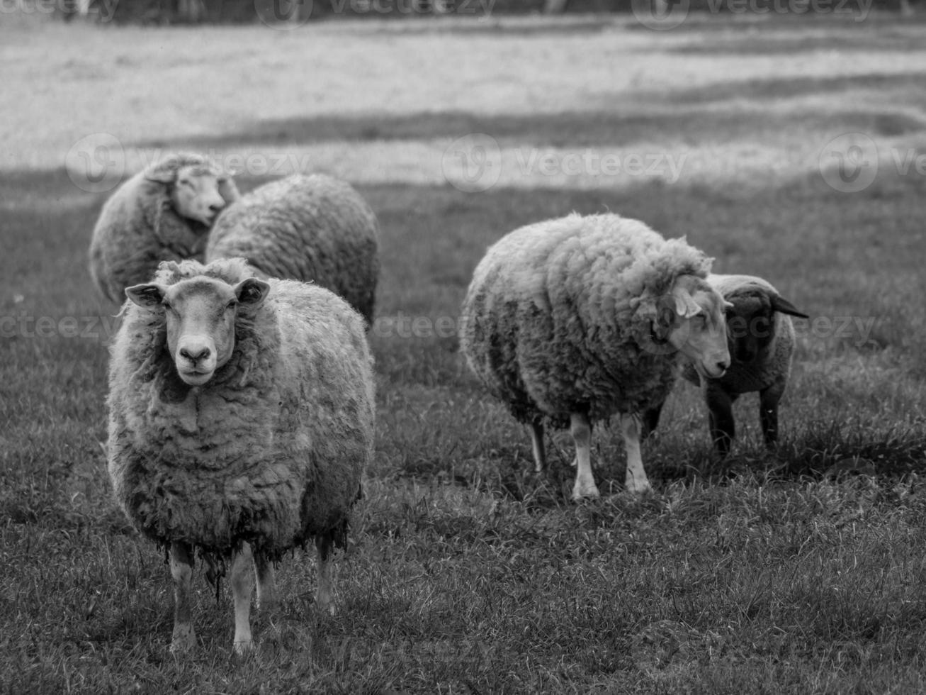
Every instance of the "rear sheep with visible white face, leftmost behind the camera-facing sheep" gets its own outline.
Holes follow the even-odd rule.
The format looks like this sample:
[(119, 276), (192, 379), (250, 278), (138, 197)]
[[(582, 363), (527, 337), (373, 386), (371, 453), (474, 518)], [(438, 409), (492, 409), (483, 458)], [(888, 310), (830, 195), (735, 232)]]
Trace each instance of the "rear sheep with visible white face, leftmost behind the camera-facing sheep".
[(232, 179), (208, 158), (172, 155), (109, 196), (90, 242), (90, 274), (121, 304), (125, 288), (151, 279), (162, 260), (203, 259), (209, 225), (238, 197)]

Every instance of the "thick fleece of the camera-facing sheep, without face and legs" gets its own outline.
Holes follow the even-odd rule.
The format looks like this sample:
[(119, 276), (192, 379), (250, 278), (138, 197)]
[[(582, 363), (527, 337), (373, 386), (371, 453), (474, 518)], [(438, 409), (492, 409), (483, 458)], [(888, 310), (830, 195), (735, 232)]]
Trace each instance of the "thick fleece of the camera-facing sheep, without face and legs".
[[(173, 266), (176, 270), (170, 270)], [(156, 282), (197, 275), (236, 284), (244, 261), (162, 264)], [(343, 544), (372, 455), (373, 377), (362, 321), (328, 290), (270, 281), (239, 309), (232, 358), (185, 385), (164, 309), (127, 304), (109, 372), (109, 474), (133, 524), (207, 557), (242, 541), (270, 558), (328, 535)]]

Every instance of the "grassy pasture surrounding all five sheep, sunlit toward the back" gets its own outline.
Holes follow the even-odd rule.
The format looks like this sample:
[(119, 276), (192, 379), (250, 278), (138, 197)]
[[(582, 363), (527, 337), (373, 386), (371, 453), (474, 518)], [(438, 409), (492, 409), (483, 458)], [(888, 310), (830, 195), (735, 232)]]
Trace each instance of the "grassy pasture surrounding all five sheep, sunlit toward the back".
[[(194, 32), (0, 16), (0, 691), (926, 690), (922, 28), (872, 15)], [(493, 158), (455, 158), (472, 133)], [(876, 146), (856, 193), (821, 155), (844, 133)], [(201, 568), (199, 649), (169, 654), (168, 567), (110, 499), (116, 310), (85, 267), (106, 198), (73, 167), (87, 137), (116, 141), (114, 182), (194, 147), (244, 161), (243, 189), (267, 164), (343, 176), (382, 223), (377, 451), (338, 562), (340, 613), (315, 613), (314, 560), (297, 551), (244, 660), (227, 589), (217, 602)], [(624, 166), (602, 171), (606, 156)], [(629, 156), (658, 166), (628, 171)], [(485, 162), (485, 190), (451, 184)], [(810, 314), (780, 449), (761, 447), (745, 397), (732, 456), (714, 461), (680, 384), (644, 446), (654, 495), (621, 491), (608, 427), (593, 449), (603, 499), (569, 502), (564, 434), (551, 471), (531, 473), (527, 432), (439, 319), (456, 320), (494, 239), (571, 210), (687, 234), (718, 272), (762, 274)]]

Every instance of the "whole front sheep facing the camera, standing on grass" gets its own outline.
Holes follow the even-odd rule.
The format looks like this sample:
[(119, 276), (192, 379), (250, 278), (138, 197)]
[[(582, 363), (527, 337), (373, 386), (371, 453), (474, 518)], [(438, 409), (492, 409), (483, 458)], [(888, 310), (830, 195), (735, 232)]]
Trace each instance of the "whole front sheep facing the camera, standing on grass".
[(272, 562), (314, 538), (317, 605), (332, 610), (373, 447), (363, 321), (332, 292), (264, 281), (243, 259), (162, 263), (130, 287), (109, 369), (108, 470), (119, 506), (169, 548), (172, 651), (195, 644), (194, 553), (232, 558), (234, 646), (251, 648), (250, 600), (274, 600)]

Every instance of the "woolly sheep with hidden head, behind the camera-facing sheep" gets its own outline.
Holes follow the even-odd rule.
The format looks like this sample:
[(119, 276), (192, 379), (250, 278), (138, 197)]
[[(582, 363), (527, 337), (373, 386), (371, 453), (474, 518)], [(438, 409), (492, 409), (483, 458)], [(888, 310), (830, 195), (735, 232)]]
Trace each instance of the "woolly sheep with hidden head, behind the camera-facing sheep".
[(225, 209), (209, 234), (206, 261), (242, 257), (269, 277), (320, 284), (370, 325), (379, 235), (376, 215), (349, 183), (294, 174)]

